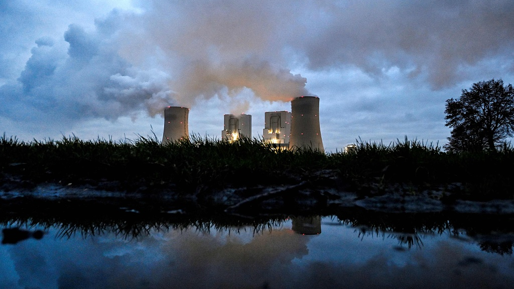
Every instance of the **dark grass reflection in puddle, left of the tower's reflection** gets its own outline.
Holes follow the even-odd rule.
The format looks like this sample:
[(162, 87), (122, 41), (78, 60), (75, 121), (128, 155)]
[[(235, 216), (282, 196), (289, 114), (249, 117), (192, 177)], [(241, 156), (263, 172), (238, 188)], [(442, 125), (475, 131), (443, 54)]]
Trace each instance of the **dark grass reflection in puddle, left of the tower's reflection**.
[(167, 216), (167, 215), (140, 215), (118, 214), (111, 218), (74, 218), (72, 216), (56, 218), (12, 218), (0, 221), (0, 227), (21, 227), (24, 229), (56, 228), (56, 238), (70, 239), (80, 236), (83, 239), (114, 234), (122, 240), (133, 240), (150, 236), (155, 232), (168, 232), (170, 230), (195, 230), (200, 233), (211, 232), (240, 233), (250, 229), (252, 233), (262, 234), (273, 228), (282, 226), (288, 216), (273, 218), (260, 218), (248, 220), (233, 216)]

